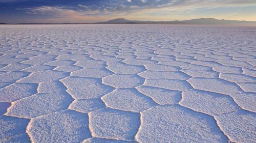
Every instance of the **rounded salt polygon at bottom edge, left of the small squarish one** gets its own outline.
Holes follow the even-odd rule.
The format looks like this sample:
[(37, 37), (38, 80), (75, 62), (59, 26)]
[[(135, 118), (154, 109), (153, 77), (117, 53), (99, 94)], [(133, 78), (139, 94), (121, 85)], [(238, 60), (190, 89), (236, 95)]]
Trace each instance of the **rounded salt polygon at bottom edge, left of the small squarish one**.
[(91, 137), (88, 115), (72, 110), (34, 118), (28, 132), (34, 142), (80, 142)]

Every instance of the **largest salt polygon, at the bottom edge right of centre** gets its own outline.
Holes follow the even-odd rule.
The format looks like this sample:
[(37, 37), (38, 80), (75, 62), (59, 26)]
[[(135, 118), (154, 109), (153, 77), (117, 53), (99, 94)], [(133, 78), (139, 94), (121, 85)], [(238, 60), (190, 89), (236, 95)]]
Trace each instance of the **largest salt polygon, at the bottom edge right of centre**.
[[(224, 142), (214, 118), (180, 105), (157, 106), (142, 112), (139, 142)], [(156, 137), (152, 137), (156, 136)]]

